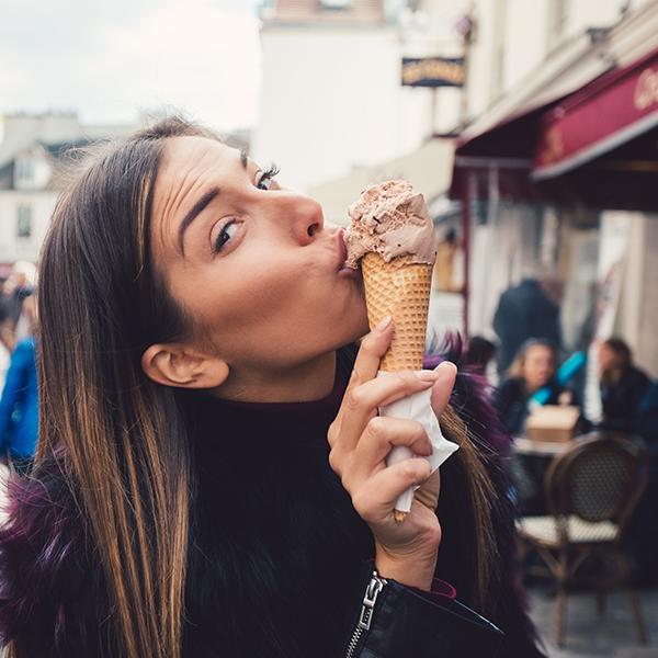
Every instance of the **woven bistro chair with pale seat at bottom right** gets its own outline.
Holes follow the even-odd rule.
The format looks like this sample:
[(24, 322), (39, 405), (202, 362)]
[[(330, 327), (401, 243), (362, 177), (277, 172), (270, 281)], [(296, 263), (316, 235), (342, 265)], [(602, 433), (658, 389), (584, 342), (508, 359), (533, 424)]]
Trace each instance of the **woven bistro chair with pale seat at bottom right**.
[[(646, 627), (637, 593), (628, 582), (629, 567), (623, 552), (627, 523), (646, 480), (646, 463), (635, 442), (621, 436), (585, 438), (555, 457), (546, 472), (548, 515), (519, 520), (521, 568), (529, 574), (547, 575), (557, 583), (558, 646), (564, 645), (565, 638), (567, 592), (576, 582), (595, 588), (599, 614), (604, 611), (605, 592), (624, 587), (638, 639), (646, 644)], [(525, 558), (532, 548), (543, 566), (526, 569)], [(593, 556), (613, 568), (599, 567), (594, 575), (591, 570), (578, 574)]]

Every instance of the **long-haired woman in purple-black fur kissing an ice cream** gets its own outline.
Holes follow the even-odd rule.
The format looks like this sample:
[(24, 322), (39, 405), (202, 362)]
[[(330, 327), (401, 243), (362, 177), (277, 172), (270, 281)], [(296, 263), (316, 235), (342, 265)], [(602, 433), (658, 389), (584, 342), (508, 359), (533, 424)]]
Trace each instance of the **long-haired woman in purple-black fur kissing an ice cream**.
[(497, 629), (433, 581), (439, 546), (456, 545), (460, 599), (514, 615), (511, 651), (533, 646), (496, 571), (509, 526), (491, 538), (490, 481), (454, 412), (452, 524), (424, 460), (384, 463), (392, 444), (429, 445), (377, 406), (432, 388), (441, 413), (454, 367), (375, 378), (390, 322), (354, 358), (366, 317), (342, 235), (273, 177), (169, 120), (59, 202), (39, 274), (39, 453), (0, 537), (10, 655), (495, 655)]

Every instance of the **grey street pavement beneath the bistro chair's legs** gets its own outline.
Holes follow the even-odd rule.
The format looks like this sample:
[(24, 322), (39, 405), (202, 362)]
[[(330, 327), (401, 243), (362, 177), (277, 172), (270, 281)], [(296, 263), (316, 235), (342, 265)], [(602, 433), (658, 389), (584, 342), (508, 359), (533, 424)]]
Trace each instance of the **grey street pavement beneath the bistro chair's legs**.
[(567, 603), (567, 633), (563, 648), (555, 644), (555, 597), (542, 589), (529, 591), (531, 615), (551, 658), (658, 658), (658, 588), (640, 590), (640, 608), (649, 644), (637, 642), (628, 599), (623, 592), (606, 599), (599, 616), (592, 593), (574, 593)]

